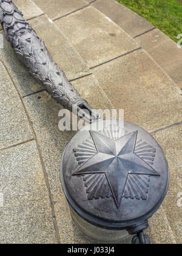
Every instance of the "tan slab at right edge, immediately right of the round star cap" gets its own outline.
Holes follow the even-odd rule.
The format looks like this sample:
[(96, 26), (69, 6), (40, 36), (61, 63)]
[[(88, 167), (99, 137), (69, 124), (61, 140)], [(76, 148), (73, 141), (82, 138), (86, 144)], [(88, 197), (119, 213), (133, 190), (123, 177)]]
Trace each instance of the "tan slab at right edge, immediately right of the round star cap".
[[(182, 193), (181, 156), (182, 156), (182, 124), (157, 132), (153, 137), (160, 143), (167, 157), (170, 170), (170, 185), (163, 202), (170, 227), (178, 244), (182, 243), (182, 207), (177, 205), (178, 194)], [(182, 196), (181, 196), (182, 197)]]

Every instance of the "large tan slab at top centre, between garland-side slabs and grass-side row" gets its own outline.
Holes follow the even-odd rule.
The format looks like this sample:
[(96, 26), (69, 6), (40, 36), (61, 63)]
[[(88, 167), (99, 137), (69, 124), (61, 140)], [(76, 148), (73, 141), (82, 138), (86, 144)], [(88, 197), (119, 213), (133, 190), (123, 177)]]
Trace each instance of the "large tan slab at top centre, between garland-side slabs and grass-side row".
[(119, 26), (92, 6), (61, 18), (55, 24), (89, 68), (139, 47)]

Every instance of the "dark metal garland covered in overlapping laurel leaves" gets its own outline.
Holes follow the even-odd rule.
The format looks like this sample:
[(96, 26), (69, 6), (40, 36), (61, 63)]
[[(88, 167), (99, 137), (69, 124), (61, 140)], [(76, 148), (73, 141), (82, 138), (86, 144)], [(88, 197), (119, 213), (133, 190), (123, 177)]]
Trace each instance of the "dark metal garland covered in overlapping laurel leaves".
[[(73, 111), (73, 105), (76, 105), (75, 114), (80, 112), (80, 116), (91, 122), (92, 108), (85, 99), (81, 98), (62, 70), (53, 62), (44, 42), (24, 20), (22, 13), (11, 0), (0, 0), (0, 22), (5, 37), (32, 76), (64, 108)], [(92, 118), (98, 119), (97, 113), (92, 114)]]

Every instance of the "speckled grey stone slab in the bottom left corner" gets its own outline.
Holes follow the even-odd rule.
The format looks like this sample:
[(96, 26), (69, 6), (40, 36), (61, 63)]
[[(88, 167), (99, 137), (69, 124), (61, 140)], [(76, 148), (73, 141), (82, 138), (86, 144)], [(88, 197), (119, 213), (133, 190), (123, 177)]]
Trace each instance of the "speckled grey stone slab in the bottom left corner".
[(0, 152), (0, 243), (58, 243), (35, 141)]

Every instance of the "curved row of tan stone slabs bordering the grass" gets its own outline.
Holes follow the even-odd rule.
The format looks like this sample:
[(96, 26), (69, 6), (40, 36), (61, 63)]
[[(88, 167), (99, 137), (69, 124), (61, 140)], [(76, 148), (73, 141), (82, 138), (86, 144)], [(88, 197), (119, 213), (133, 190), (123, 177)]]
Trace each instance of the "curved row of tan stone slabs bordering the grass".
[(96, 0), (92, 5), (134, 38), (178, 87), (182, 88), (182, 49), (175, 41), (115, 0)]

